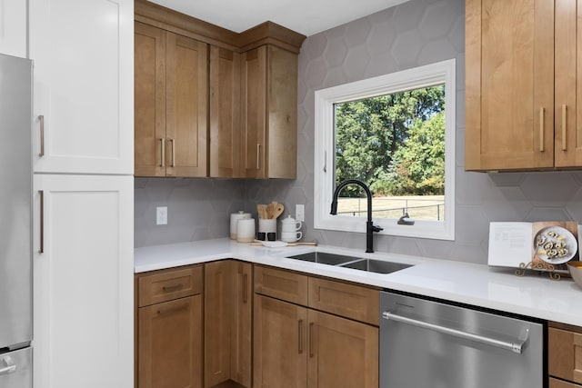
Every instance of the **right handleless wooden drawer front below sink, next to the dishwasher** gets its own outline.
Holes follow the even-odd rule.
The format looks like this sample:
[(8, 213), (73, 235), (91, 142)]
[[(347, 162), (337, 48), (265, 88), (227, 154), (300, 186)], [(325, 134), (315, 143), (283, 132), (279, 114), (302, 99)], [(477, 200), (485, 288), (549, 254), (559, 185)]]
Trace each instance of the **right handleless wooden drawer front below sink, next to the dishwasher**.
[(380, 292), (356, 284), (310, 277), (308, 306), (376, 326), (380, 321)]

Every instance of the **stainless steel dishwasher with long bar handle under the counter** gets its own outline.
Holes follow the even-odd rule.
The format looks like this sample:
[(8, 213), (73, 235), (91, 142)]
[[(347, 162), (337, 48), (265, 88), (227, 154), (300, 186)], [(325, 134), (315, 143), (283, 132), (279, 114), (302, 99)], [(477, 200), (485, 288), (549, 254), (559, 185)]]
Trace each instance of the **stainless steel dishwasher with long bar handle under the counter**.
[(545, 324), (380, 296), (380, 388), (545, 388)]

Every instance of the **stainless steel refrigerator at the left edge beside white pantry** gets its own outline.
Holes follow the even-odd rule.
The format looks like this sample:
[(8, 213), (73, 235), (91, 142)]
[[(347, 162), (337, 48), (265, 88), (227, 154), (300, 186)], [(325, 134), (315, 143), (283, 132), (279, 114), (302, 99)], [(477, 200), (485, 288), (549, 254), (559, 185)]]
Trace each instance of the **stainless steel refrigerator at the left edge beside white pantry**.
[(32, 387), (32, 62), (0, 55), (0, 387)]

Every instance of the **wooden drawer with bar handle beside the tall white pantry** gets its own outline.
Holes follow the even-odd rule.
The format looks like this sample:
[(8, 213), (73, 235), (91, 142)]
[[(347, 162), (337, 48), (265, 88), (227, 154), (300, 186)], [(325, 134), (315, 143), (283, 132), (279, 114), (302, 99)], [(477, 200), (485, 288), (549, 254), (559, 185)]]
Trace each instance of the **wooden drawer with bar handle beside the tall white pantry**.
[(202, 266), (142, 276), (138, 283), (139, 307), (195, 295), (202, 293)]

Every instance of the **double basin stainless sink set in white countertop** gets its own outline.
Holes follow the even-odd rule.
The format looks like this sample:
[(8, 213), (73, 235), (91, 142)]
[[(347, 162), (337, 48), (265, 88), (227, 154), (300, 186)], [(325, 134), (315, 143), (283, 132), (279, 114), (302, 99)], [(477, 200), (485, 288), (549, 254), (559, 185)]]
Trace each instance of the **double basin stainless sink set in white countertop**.
[(312, 252), (309, 254), (297, 254), (287, 256), (289, 259), (303, 260), (311, 263), (336, 265), (338, 267), (352, 268), (376, 274), (390, 274), (403, 270), (412, 265), (402, 263), (385, 262), (376, 259), (363, 259), (361, 257), (346, 256), (343, 254), (327, 254), (325, 252)]

